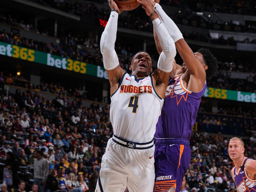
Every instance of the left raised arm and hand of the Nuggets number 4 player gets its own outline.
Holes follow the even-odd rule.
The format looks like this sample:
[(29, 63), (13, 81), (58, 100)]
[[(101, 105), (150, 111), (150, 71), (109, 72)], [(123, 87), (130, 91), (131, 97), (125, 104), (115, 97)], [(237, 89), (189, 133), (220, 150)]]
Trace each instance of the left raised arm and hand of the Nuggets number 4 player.
[(114, 92), (124, 73), (124, 70), (119, 66), (118, 57), (115, 51), (118, 13), (120, 14), (122, 10), (117, 7), (113, 0), (109, 0), (108, 4), (111, 13), (108, 23), (101, 35), (100, 52), (102, 53), (104, 68), (108, 73), (111, 85), (110, 92)]

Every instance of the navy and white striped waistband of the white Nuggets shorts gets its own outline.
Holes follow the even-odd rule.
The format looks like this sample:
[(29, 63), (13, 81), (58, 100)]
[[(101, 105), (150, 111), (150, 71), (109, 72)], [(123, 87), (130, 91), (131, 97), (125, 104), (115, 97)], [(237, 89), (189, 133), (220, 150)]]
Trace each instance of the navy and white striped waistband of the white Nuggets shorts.
[[(124, 143), (121, 143), (118, 140), (115, 140), (115, 138), (118, 139), (118, 140), (123, 141)], [(149, 142), (146, 142), (146, 143), (138, 143), (138, 142), (133, 142), (133, 141), (125, 140), (125, 139), (123, 139), (121, 137), (118, 137), (118, 136), (113, 134), (112, 140), (115, 143), (119, 144), (119, 145), (122, 145), (122, 146), (127, 147), (127, 148), (132, 148), (132, 149), (148, 149), (148, 148), (151, 148), (151, 147), (154, 146), (153, 139), (151, 141), (149, 141)], [(137, 147), (136, 147), (136, 145), (137, 145)], [(139, 145), (139, 147), (138, 147), (138, 145)], [(142, 147), (143, 145), (146, 145), (146, 146)]]

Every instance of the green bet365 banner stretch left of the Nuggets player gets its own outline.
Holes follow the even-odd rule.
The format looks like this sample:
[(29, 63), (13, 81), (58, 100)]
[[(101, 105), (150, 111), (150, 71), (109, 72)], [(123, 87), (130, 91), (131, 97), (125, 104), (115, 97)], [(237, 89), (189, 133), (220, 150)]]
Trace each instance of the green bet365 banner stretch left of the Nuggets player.
[(13, 44), (0, 42), (0, 54), (65, 69), (68, 71), (75, 71), (77, 73), (108, 79), (107, 72), (103, 67), (60, 57), (57, 55), (52, 55), (50, 53), (20, 47)]

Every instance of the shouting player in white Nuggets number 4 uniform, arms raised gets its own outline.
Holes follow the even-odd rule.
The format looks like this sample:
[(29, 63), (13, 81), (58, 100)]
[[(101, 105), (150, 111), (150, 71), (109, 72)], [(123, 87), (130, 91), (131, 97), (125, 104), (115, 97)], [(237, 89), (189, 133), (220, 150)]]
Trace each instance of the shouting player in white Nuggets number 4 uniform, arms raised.
[(152, 6), (143, 5), (156, 28), (163, 52), (152, 75), (151, 57), (144, 51), (134, 55), (132, 75), (125, 73), (114, 49), (118, 13), (122, 10), (113, 0), (109, 0), (109, 6), (112, 11), (101, 36), (100, 50), (111, 85), (110, 120), (114, 135), (102, 157), (95, 191), (124, 192), (127, 187), (129, 192), (150, 192), (155, 180), (153, 137), (176, 49), (153, 8), (149, 9)]

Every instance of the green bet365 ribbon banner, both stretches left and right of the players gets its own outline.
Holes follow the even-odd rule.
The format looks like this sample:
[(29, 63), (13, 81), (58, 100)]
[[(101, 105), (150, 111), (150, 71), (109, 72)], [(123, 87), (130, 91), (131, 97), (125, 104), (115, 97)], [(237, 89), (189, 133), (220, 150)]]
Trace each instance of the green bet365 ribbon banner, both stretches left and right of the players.
[[(108, 79), (103, 67), (0, 42), (0, 54), (44, 65)], [(256, 103), (256, 93), (207, 87), (204, 97)]]

